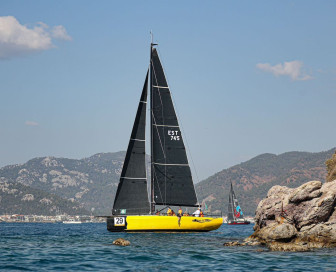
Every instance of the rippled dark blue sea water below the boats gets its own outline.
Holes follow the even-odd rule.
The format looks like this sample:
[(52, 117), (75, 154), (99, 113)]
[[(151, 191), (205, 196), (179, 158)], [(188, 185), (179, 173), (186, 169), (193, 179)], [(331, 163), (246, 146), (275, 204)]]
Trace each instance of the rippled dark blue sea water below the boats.
[[(336, 249), (270, 252), (224, 247), (252, 226), (209, 233), (110, 233), (105, 224), (0, 223), (4, 271), (336, 271)], [(118, 247), (119, 238), (131, 242)], [(261, 251), (264, 250), (264, 251)]]

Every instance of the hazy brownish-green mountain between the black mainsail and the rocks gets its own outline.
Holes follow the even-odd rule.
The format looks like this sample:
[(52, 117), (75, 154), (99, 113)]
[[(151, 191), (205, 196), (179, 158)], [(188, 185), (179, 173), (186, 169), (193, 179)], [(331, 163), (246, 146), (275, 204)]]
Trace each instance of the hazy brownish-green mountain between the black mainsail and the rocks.
[(324, 181), (327, 175), (325, 162), (334, 152), (335, 148), (319, 153), (259, 155), (196, 184), (198, 199), (211, 211), (221, 210), (226, 215), (232, 182), (243, 212), (254, 215), (259, 201), (274, 185), (294, 188), (311, 180)]

